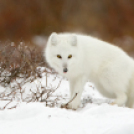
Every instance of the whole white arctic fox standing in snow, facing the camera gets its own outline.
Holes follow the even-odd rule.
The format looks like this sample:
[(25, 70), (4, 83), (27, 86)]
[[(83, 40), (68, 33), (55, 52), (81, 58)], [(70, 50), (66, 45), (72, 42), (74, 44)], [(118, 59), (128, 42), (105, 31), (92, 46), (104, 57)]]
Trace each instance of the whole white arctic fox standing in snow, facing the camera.
[(91, 36), (52, 33), (44, 55), (69, 80), (70, 100), (77, 94), (68, 108), (79, 107), (88, 80), (102, 95), (115, 98), (115, 104), (133, 107), (134, 60), (117, 46)]

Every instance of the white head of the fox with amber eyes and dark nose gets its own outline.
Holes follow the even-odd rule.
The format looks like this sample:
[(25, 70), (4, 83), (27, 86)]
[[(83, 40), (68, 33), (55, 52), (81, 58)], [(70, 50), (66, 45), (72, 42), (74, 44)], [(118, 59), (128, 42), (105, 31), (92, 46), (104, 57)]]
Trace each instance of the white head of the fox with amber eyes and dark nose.
[(49, 65), (60, 74), (73, 73), (77, 59), (77, 37), (73, 34), (52, 33), (48, 39), (45, 57)]

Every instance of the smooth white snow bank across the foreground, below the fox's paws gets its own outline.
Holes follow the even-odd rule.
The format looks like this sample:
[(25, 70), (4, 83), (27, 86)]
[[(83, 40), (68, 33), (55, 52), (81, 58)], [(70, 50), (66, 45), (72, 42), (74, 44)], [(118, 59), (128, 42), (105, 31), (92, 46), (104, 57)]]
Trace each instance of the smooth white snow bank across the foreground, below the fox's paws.
[(77, 111), (21, 103), (0, 112), (2, 134), (133, 134), (134, 110), (88, 104)]

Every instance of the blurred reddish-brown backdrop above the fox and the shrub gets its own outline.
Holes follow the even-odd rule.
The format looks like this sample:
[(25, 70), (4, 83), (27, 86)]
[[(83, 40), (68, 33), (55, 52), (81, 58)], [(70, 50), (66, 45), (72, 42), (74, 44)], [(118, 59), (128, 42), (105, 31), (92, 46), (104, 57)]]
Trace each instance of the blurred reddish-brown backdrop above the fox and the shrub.
[(0, 0), (0, 40), (45, 44), (52, 32), (88, 34), (134, 56), (134, 0)]

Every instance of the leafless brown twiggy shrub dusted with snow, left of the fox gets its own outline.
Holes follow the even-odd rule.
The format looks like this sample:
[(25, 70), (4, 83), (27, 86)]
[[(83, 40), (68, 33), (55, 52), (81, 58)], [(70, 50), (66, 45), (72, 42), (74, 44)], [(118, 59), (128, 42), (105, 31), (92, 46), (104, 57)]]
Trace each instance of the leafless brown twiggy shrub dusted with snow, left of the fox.
[[(48, 99), (56, 89), (47, 90), (47, 72), (46, 69), (41, 70), (39, 66), (47, 66), (41, 49), (32, 46), (27, 46), (24, 42), (15, 44), (13, 42), (6, 42), (0, 50), (0, 85), (6, 90), (0, 93), (2, 101), (8, 101), (7, 104), (0, 108), (12, 109), (16, 108), (18, 103), (24, 102), (45, 102), (46, 105), (52, 106), (54, 104), (48, 103)], [(31, 96), (23, 98), (25, 89), (22, 88), (24, 84), (31, 83), (37, 78), (42, 77), (42, 73), (46, 73), (46, 87), (41, 85), (41, 91), (37, 86), (37, 91), (31, 92)], [(60, 84), (60, 83), (59, 83)], [(47, 96), (45, 99), (43, 95)], [(18, 97), (19, 96), (19, 97)], [(11, 102), (17, 100), (18, 103), (9, 107)]]

